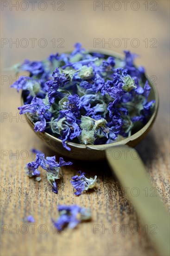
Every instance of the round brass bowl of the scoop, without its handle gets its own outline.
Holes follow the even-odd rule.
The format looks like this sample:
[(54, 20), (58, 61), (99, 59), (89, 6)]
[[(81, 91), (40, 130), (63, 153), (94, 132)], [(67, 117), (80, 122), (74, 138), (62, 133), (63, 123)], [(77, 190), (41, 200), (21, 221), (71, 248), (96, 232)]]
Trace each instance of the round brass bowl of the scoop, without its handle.
[[(112, 51), (108, 50), (88, 50), (89, 52), (100, 52), (102, 54), (105, 54), (106, 56), (113, 56), (119, 59), (122, 59), (123, 56), (118, 53), (114, 53)], [(147, 76), (148, 77), (148, 76)], [(146, 75), (145, 75), (146, 78)], [(148, 80), (148, 78), (147, 78)], [(155, 100), (155, 107), (154, 111), (146, 123), (146, 125), (141, 128), (139, 131), (134, 133), (132, 136), (127, 137), (121, 141), (117, 141), (110, 144), (102, 144), (102, 145), (83, 145), (78, 143), (72, 143), (67, 142), (67, 145), (71, 148), (70, 151), (63, 148), (62, 140), (46, 133), (40, 133), (37, 132), (36, 135), (38, 135), (39, 138), (41, 138), (48, 147), (56, 151), (59, 155), (67, 156), (69, 158), (77, 159), (77, 160), (84, 160), (84, 161), (98, 161), (103, 160), (105, 158), (105, 150), (112, 148), (114, 146), (120, 146), (120, 145), (129, 145), (130, 147), (135, 147), (144, 137), (147, 135), (149, 130), (151, 129), (151, 126), (153, 125), (158, 111), (158, 93), (157, 88), (151, 83), (150, 80), (149, 84), (151, 86), (151, 91), (149, 94), (149, 100)], [(22, 92), (21, 95), (21, 103), (24, 105), (24, 92)], [(26, 114), (28, 124), (31, 126), (32, 129), (34, 129), (34, 123), (31, 121), (28, 114)]]

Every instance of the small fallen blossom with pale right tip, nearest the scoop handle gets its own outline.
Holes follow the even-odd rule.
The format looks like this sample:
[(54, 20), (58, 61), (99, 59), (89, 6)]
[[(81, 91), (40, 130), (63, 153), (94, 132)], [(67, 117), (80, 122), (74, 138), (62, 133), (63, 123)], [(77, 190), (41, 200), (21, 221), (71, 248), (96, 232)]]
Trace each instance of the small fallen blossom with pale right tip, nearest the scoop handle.
[(79, 171), (80, 175), (75, 175), (70, 181), (73, 187), (77, 190), (75, 195), (81, 195), (84, 190), (93, 189), (96, 186), (96, 179), (97, 176), (95, 175), (94, 178), (86, 178), (85, 173)]

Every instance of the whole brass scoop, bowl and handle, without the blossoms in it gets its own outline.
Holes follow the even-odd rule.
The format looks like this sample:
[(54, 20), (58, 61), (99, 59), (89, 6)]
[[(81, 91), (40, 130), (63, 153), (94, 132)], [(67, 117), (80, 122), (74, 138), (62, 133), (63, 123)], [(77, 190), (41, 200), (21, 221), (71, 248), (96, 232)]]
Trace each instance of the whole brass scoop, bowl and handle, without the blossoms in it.
[[(113, 53), (112, 51), (89, 50), (89, 52), (94, 51), (122, 59), (122, 55)], [(60, 139), (48, 133), (37, 132), (36, 134), (45, 141), (51, 149), (60, 155), (83, 161), (99, 161), (106, 158), (113, 174), (117, 176), (122, 187), (128, 188), (127, 196), (131, 200), (142, 221), (145, 225), (148, 225), (148, 230), (151, 231), (155, 228), (155, 232), (149, 231), (148, 234), (153, 245), (156, 247), (157, 252), (159, 255), (169, 256), (169, 215), (157, 195), (154, 197), (146, 196), (144, 189), (147, 188), (147, 191), (152, 191), (153, 186), (137, 151), (134, 148), (131, 148), (136, 146), (145, 137), (157, 116), (159, 102), (157, 89), (151, 81), (149, 81), (149, 83), (151, 86), (149, 100), (156, 101), (154, 112), (143, 128), (122, 141), (104, 145), (82, 145), (67, 142), (67, 145), (71, 148), (71, 151), (68, 151), (63, 148), (62, 141)], [(22, 93), (22, 105), (24, 104), (23, 97), (24, 94)], [(34, 129), (34, 123), (30, 120), (29, 115), (26, 114), (26, 116), (29, 125)], [(131, 193), (134, 188), (137, 188), (136, 191), (138, 196), (135, 196), (137, 194), (134, 195)]]

